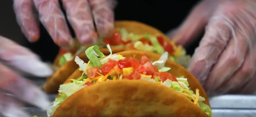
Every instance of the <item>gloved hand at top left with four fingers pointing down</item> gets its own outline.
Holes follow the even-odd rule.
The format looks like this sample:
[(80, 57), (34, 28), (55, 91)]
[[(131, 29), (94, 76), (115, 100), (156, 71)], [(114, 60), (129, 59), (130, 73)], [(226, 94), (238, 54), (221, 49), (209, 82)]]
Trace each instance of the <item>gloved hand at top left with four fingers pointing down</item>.
[[(67, 19), (81, 44), (95, 44), (95, 21), (97, 32), (101, 36), (114, 30), (115, 3), (111, 0), (62, 0)], [(33, 8), (39, 13), (39, 20), (60, 47), (70, 48), (74, 40), (67, 27), (65, 16), (58, 0), (14, 0), (16, 19), (22, 32), (30, 42), (39, 39), (39, 22)]]

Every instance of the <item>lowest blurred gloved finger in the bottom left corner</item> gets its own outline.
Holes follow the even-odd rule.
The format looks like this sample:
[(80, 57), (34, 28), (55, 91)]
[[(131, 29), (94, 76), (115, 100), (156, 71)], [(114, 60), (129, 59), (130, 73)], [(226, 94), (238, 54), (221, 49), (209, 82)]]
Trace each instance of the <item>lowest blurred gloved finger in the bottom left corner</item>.
[(21, 110), (21, 104), (6, 94), (0, 93), (0, 113), (6, 117), (30, 117)]

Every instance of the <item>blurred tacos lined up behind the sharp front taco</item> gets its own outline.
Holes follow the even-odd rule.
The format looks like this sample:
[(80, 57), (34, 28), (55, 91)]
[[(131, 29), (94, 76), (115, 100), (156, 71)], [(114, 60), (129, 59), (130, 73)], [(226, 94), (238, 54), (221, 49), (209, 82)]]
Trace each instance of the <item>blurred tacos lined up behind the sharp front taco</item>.
[[(121, 52), (125, 50), (150, 51), (158, 54), (168, 52), (168, 59), (175, 61), (186, 67), (190, 56), (186, 55), (185, 49), (181, 45), (175, 44), (175, 39), (169, 39), (158, 29), (136, 21), (116, 21), (115, 32), (109, 37), (99, 37), (99, 48), (103, 54), (110, 54), (106, 45), (109, 44), (112, 52)], [(87, 60), (84, 50), (88, 47), (82, 47), (75, 39), (75, 47), (72, 50), (65, 51), (60, 49), (59, 54), (54, 60), (55, 73), (46, 78), (47, 82), (43, 85), (46, 93), (56, 93), (61, 85), (77, 68), (74, 63), (75, 56), (82, 60)]]

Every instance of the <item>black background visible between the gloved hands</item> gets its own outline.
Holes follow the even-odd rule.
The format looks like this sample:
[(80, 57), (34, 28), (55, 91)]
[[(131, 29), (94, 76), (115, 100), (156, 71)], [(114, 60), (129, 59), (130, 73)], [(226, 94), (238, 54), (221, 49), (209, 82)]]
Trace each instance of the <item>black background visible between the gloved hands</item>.
[[(179, 26), (197, 2), (198, 0), (186, 2), (184, 0), (118, 0), (118, 4), (115, 8), (115, 19), (140, 21), (152, 25), (166, 33)], [(53, 43), (48, 32), (41, 24), (41, 36), (39, 41), (29, 43), (22, 34), (19, 25), (16, 23), (11, 0), (0, 1), (0, 16), (0, 35), (30, 48), (41, 56), (44, 61), (54, 60), (59, 47)], [(72, 29), (71, 32), (73, 34), (72, 36), (74, 36)], [(198, 42), (195, 42), (190, 47), (187, 47), (187, 53), (192, 55), (197, 46)]]

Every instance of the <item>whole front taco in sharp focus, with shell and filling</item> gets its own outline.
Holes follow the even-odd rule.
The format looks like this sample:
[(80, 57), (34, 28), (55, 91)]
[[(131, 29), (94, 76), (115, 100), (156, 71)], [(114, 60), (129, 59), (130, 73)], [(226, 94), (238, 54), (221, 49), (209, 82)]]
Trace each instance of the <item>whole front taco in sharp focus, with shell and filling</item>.
[(60, 96), (46, 109), (49, 116), (213, 117), (199, 81), (167, 60), (168, 52), (161, 56), (137, 50), (112, 54), (109, 50), (111, 54), (103, 58), (97, 46), (89, 47), (85, 51), (89, 61), (76, 56), (82, 71), (60, 85)]

